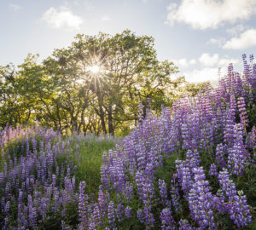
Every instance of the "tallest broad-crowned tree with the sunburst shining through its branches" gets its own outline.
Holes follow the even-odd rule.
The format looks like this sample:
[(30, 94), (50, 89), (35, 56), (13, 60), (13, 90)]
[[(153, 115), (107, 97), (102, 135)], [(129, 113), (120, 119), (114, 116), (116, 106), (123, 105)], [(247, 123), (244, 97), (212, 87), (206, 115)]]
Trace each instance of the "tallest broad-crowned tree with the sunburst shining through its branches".
[(173, 84), (170, 75), (177, 72), (172, 62), (157, 60), (153, 37), (138, 37), (129, 30), (115, 36), (77, 35), (68, 49), (56, 49), (44, 66), (68, 85), (70, 80), (83, 83), (83, 100), (101, 120), (102, 131), (110, 134), (120, 124), (137, 120), (138, 102), (147, 97), (165, 101)]

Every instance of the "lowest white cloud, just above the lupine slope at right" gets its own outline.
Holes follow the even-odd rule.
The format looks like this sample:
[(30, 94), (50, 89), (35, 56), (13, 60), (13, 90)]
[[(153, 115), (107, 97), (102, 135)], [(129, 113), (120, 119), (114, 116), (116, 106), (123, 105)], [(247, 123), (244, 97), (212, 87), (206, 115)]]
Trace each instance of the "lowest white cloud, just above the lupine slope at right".
[(217, 81), (218, 80), (218, 68), (206, 67), (202, 69), (195, 69), (191, 72), (184, 72), (188, 82), (201, 83), (206, 81)]

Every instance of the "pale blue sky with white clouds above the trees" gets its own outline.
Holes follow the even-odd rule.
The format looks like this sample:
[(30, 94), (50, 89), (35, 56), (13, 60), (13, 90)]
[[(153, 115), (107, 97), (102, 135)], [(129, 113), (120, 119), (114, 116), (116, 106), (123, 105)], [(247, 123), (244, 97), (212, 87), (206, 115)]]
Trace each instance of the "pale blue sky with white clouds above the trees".
[(256, 0), (0, 0), (0, 66), (28, 53), (42, 60), (78, 33), (125, 29), (154, 37), (158, 59), (173, 61), (178, 76), (217, 81), (218, 68), (224, 75), (232, 62), (241, 72), (241, 55), (256, 56)]

